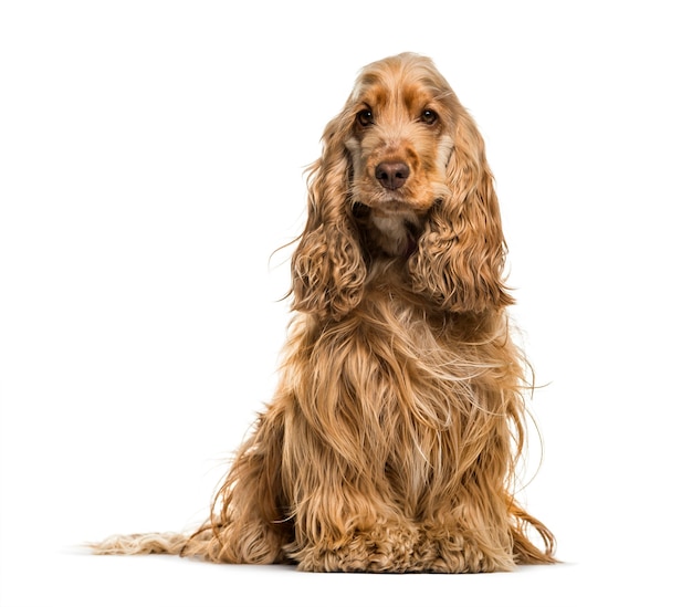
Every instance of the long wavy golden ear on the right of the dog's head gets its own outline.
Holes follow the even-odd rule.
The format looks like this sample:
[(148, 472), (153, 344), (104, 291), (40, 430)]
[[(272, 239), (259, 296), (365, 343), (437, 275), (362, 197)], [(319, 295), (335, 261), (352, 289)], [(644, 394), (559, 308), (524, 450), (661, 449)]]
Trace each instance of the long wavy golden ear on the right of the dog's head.
[(443, 310), (483, 312), (514, 302), (503, 283), (505, 242), (485, 145), (461, 109), (447, 166), (450, 196), (437, 203), (409, 260), (413, 289)]

